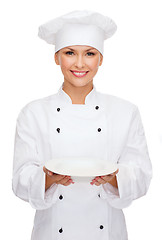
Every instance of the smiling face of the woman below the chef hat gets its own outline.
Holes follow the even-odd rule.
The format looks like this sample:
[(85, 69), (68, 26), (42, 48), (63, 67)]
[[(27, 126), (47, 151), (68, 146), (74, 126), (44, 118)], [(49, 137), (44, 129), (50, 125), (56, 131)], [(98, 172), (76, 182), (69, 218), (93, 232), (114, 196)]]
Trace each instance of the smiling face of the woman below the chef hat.
[(69, 46), (55, 53), (55, 62), (61, 67), (64, 82), (76, 87), (93, 81), (102, 60), (102, 54), (90, 46)]

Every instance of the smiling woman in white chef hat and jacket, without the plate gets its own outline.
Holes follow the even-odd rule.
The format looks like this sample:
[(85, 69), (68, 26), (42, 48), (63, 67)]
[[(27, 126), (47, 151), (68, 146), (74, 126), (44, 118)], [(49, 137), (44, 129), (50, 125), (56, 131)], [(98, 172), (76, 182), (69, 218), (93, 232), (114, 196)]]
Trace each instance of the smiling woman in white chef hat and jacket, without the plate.
[[(76, 11), (39, 28), (55, 45), (64, 82), (56, 94), (28, 103), (17, 119), (13, 191), (36, 209), (32, 240), (127, 240), (122, 209), (146, 194), (152, 168), (138, 108), (93, 84), (110, 18)], [(91, 182), (48, 171), (53, 158), (89, 157), (116, 163)]]

